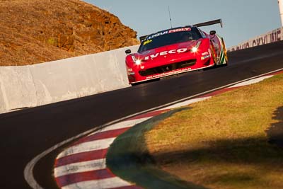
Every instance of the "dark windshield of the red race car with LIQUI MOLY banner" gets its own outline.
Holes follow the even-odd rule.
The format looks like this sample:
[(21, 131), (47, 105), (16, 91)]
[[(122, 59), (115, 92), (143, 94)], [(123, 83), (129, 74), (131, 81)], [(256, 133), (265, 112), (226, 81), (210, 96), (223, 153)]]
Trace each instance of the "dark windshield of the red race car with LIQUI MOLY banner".
[[(170, 33), (171, 31), (174, 31)], [(156, 36), (157, 35), (157, 36)], [(196, 28), (180, 28), (175, 30), (163, 31), (154, 35), (149, 35), (141, 42), (138, 52), (152, 50), (166, 45), (173, 45), (179, 42), (198, 40), (202, 38)]]

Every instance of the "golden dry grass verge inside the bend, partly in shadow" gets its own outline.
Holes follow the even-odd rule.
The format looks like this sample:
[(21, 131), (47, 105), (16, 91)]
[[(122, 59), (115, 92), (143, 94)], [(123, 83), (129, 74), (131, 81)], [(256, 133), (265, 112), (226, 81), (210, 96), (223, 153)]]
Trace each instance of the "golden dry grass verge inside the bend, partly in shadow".
[(146, 132), (158, 166), (207, 188), (283, 188), (283, 75), (190, 105)]

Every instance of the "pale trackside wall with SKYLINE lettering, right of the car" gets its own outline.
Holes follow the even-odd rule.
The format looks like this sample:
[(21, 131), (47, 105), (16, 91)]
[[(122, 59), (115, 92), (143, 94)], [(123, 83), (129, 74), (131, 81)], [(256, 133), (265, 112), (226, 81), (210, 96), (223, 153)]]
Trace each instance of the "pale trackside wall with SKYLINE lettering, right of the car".
[(269, 33), (259, 35), (258, 37), (252, 38), (246, 42), (241, 42), (239, 45), (229, 47), (228, 51), (243, 50), (250, 47), (265, 45), (271, 42), (277, 42), (280, 40), (283, 40), (283, 28), (272, 30)]

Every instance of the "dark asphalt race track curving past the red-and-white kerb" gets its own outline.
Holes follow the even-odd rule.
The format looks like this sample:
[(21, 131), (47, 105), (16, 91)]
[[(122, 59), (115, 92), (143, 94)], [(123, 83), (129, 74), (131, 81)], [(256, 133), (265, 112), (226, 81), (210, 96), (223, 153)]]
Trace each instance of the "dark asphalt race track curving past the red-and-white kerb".
[[(46, 149), (106, 122), (283, 67), (283, 42), (229, 53), (229, 66), (194, 71), (86, 98), (0, 115), (0, 188), (30, 188), (23, 171)], [(54, 151), (35, 166), (44, 188), (56, 188)]]

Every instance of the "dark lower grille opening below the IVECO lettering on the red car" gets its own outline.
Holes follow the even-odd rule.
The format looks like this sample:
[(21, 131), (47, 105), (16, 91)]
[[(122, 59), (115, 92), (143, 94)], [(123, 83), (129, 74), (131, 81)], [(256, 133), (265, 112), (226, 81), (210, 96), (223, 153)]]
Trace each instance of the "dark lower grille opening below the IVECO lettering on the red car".
[(175, 69), (181, 69), (181, 68), (185, 68), (185, 67), (191, 67), (195, 64), (195, 62), (197, 62), (197, 59), (190, 59), (184, 62), (177, 62), (177, 63), (173, 63), (173, 64), (166, 64), (164, 66), (161, 67), (154, 67), (151, 69), (146, 69), (143, 71), (139, 71), (139, 74), (141, 76), (149, 76), (149, 75), (154, 75), (154, 74), (162, 74), (168, 71), (173, 71)]

